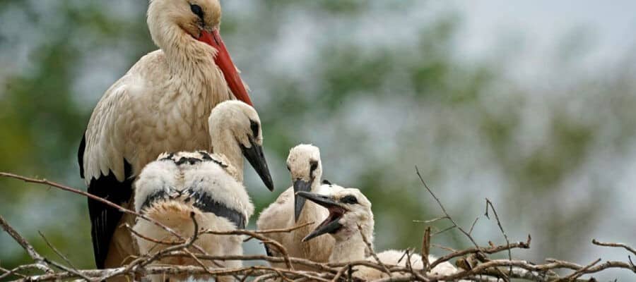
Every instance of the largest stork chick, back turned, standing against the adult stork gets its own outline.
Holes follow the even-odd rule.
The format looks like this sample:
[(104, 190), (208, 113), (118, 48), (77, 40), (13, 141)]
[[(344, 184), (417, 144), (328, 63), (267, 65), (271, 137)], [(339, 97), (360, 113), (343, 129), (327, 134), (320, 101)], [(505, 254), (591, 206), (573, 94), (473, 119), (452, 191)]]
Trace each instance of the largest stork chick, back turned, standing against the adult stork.
[[(259, 117), (251, 106), (228, 101), (218, 104), (209, 118), (215, 154), (179, 152), (161, 154), (148, 164), (136, 180), (135, 209), (163, 223), (183, 238), (194, 234), (193, 213), (200, 229), (231, 231), (245, 228), (254, 212), (254, 205), (242, 185), (245, 155), (252, 166), (269, 169), (262, 154), (262, 133)], [(178, 238), (155, 224), (138, 219), (134, 231), (161, 241)], [(136, 237), (141, 255), (158, 252), (167, 245)], [(209, 255), (242, 255), (242, 236), (203, 234), (196, 241)], [(182, 257), (161, 259), (158, 263), (189, 264), (196, 262)], [(206, 262), (212, 267), (211, 262)], [(241, 266), (240, 261), (220, 262), (223, 267)], [(184, 280), (187, 276), (175, 276)], [(221, 277), (229, 279), (230, 277)], [(153, 281), (165, 281), (153, 276)], [(230, 279), (231, 280), (231, 279)]]

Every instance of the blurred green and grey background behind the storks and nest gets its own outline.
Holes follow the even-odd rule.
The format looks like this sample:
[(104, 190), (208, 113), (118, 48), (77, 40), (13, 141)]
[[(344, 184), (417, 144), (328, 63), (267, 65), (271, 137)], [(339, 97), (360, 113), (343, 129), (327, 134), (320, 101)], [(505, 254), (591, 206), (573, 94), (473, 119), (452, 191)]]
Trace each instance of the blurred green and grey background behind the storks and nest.
[[(377, 250), (420, 246), (425, 225), (412, 221), (441, 215), (415, 166), (462, 226), (488, 197), (511, 240), (531, 234), (516, 257), (625, 261), (591, 239), (636, 245), (636, 2), (222, 5), (223, 39), (252, 88), (276, 184), (266, 192), (245, 168), (257, 211), (290, 185), (288, 149), (311, 142), (325, 178), (372, 201)], [(93, 107), (156, 48), (146, 6), (0, 1), (0, 171), (84, 188), (76, 149)], [(0, 189), (0, 214), (37, 250), (52, 255), (42, 231), (93, 267), (85, 198), (17, 180)], [(483, 216), (473, 232), (483, 245), (505, 242)], [(470, 245), (457, 231), (433, 240)], [(0, 266), (27, 261), (0, 233)]]

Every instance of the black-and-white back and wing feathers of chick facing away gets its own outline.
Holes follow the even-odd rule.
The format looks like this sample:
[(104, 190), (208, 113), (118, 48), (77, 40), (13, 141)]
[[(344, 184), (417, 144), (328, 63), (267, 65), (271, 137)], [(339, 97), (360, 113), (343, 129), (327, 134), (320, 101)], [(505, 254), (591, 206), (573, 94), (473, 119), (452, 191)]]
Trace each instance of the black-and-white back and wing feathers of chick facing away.
[(177, 201), (245, 228), (254, 205), (235, 178), (235, 169), (220, 154), (162, 154), (135, 182), (135, 209), (145, 212), (161, 202)]

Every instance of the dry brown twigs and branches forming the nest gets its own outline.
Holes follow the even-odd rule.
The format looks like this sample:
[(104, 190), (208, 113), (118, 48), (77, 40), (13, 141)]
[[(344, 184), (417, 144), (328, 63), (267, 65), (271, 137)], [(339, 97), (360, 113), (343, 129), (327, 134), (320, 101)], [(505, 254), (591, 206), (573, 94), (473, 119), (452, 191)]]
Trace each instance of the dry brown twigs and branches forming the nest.
[[(470, 231), (466, 232), (463, 228), (457, 225), (456, 221), (450, 216), (447, 210), (444, 208), (442, 202), (437, 198), (437, 196), (428, 188), (428, 185), (424, 182), (422, 176), (419, 171), (417, 174), (424, 184), (425, 188), (428, 190), (430, 195), (437, 201), (437, 204), (440, 205), (444, 216), (441, 216), (437, 219), (432, 219), (428, 221), (417, 221), (425, 224), (433, 223), (435, 221), (440, 220), (448, 220), (452, 223), (448, 230), (457, 228), (461, 233), (464, 233), (471, 243), (473, 243), (474, 247), (469, 247), (464, 250), (454, 250), (451, 247), (437, 246), (442, 247), (445, 250), (450, 250), (451, 252), (447, 255), (440, 257), (434, 262), (428, 262), (428, 254), (430, 253), (430, 239), (433, 234), (430, 232), (430, 226), (425, 229), (425, 233), (423, 236), (422, 242), (422, 251), (421, 255), (424, 260), (424, 269), (414, 269), (413, 265), (411, 265), (411, 249), (407, 250), (404, 257), (406, 257), (406, 266), (396, 266), (391, 264), (384, 264), (381, 262), (377, 255), (375, 255), (375, 250), (373, 250), (372, 245), (368, 242), (367, 238), (363, 238), (367, 247), (372, 254), (374, 259), (372, 260), (363, 260), (363, 261), (355, 261), (355, 262), (342, 262), (337, 264), (329, 264), (329, 263), (318, 263), (312, 262), (308, 259), (302, 259), (297, 257), (290, 257), (288, 255), (285, 246), (281, 243), (273, 241), (269, 238), (266, 238), (264, 234), (268, 233), (284, 233), (290, 232), (297, 228), (301, 228), (306, 226), (305, 223), (300, 226), (295, 226), (293, 228), (283, 228), (269, 231), (247, 231), (247, 230), (235, 230), (235, 231), (211, 231), (211, 230), (199, 230), (198, 223), (194, 219), (194, 216), (191, 216), (191, 219), (194, 223), (194, 233), (190, 238), (183, 238), (179, 234), (174, 231), (170, 231), (170, 228), (162, 226), (160, 223), (153, 221), (152, 219), (146, 219), (145, 216), (141, 214), (137, 214), (136, 212), (130, 211), (129, 209), (125, 209), (120, 207), (117, 204), (109, 202), (107, 200), (103, 200), (99, 197), (95, 197), (81, 190), (76, 190), (73, 188), (69, 188), (65, 185), (60, 185), (57, 183), (52, 183), (48, 180), (38, 180), (34, 178), (27, 178), (24, 176), (17, 176), (11, 173), (0, 173), (0, 177), (9, 177), (16, 178), (20, 180), (27, 181), (29, 183), (37, 183), (42, 185), (49, 185), (54, 188), (59, 188), (61, 190), (66, 190), (70, 192), (74, 192), (79, 195), (83, 195), (86, 197), (90, 197), (94, 200), (98, 200), (105, 204), (110, 205), (111, 207), (116, 207), (122, 212), (134, 214), (141, 219), (146, 219), (155, 223), (156, 225), (164, 228), (166, 231), (174, 234), (179, 238), (176, 242), (168, 242), (157, 240), (154, 238), (148, 238), (148, 236), (139, 234), (136, 232), (132, 232), (133, 235), (139, 236), (145, 240), (151, 240), (155, 243), (161, 243), (164, 245), (168, 245), (165, 249), (155, 252), (153, 254), (141, 255), (139, 257), (134, 258), (129, 264), (126, 264), (119, 268), (114, 269), (76, 269), (75, 266), (67, 259), (62, 253), (57, 250), (48, 240), (42, 235), (42, 240), (45, 240), (45, 243), (61, 258), (66, 262), (64, 264), (59, 264), (51, 259), (47, 259), (46, 257), (42, 257), (36, 250), (30, 245), (27, 240), (24, 239), (22, 235), (20, 235), (13, 227), (9, 225), (8, 222), (4, 220), (0, 216), (0, 226), (6, 231), (13, 239), (16, 240), (18, 245), (23, 247), (25, 252), (30, 255), (33, 259), (33, 264), (25, 264), (13, 267), (13, 269), (4, 269), (0, 267), (0, 279), (6, 279), (9, 277), (18, 278), (17, 281), (57, 281), (64, 279), (73, 279), (79, 278), (86, 281), (102, 281), (106, 278), (112, 278), (116, 276), (144, 276), (149, 274), (163, 274), (163, 275), (176, 275), (176, 274), (207, 274), (209, 276), (234, 276), (237, 281), (245, 281), (247, 278), (254, 278), (254, 281), (363, 281), (362, 279), (356, 277), (353, 274), (353, 269), (356, 266), (366, 266), (372, 269), (377, 269), (378, 271), (382, 271), (382, 273), (386, 274), (385, 278), (381, 278), (378, 281), (457, 281), (457, 280), (468, 280), (468, 281), (484, 281), (484, 282), (495, 282), (495, 281), (507, 281), (510, 278), (517, 278), (522, 281), (536, 281), (536, 282), (547, 282), (547, 281), (589, 281), (587, 279), (582, 279), (581, 277), (584, 275), (590, 274), (598, 274), (601, 271), (605, 271), (606, 269), (627, 269), (636, 273), (636, 266), (631, 262), (631, 257), (629, 258), (629, 262), (617, 262), (617, 261), (606, 261), (602, 262), (601, 259), (597, 259), (594, 262), (591, 262), (587, 265), (580, 265), (574, 262), (565, 262), (558, 259), (546, 259), (546, 262), (543, 264), (533, 264), (531, 262), (527, 262), (522, 259), (515, 259), (512, 256), (512, 249), (528, 249), (530, 247), (531, 237), (528, 236), (525, 242), (517, 242), (510, 243), (507, 234), (502, 227), (502, 222), (500, 221), (499, 215), (495, 211), (495, 207), (493, 206), (490, 200), (486, 199), (486, 214), (488, 217), (488, 210), (491, 209), (493, 214), (495, 215), (495, 219), (497, 221), (497, 226), (500, 228), (500, 232), (504, 236), (506, 240), (505, 245), (494, 245), (490, 243), (488, 247), (481, 247), (476, 243), (476, 240), (472, 237), (471, 233), (473, 231), (478, 218), (473, 221)], [(490, 207), (488, 207), (490, 206)], [(126, 226), (131, 230), (130, 226)], [(441, 231), (444, 232), (444, 231)], [(189, 250), (190, 247), (197, 248), (195, 242), (196, 239), (201, 234), (216, 234), (216, 235), (247, 235), (248, 238), (246, 240), (256, 239), (261, 241), (261, 243), (271, 245), (275, 247), (283, 254), (282, 257), (269, 257), (266, 255), (227, 255), (227, 256), (212, 256), (208, 255), (201, 250), (201, 253), (191, 252)], [(436, 234), (439, 234), (437, 232)], [(599, 245), (603, 247), (622, 247), (625, 250), (628, 250), (632, 254), (636, 255), (636, 251), (634, 248), (622, 244), (622, 243), (601, 243), (597, 240), (592, 240), (594, 245)], [(507, 252), (507, 259), (489, 259), (487, 255), (493, 255), (500, 252)], [(375, 255), (375, 256), (374, 256)], [(196, 265), (183, 266), (183, 265), (155, 265), (153, 262), (157, 262), (160, 259), (164, 259), (167, 257), (189, 257), (194, 259)], [(404, 259), (403, 257), (403, 259)], [(428, 270), (438, 266), (442, 262), (450, 262), (451, 259), (458, 259), (459, 264), (463, 265), (456, 273), (454, 274), (444, 274), (444, 275), (433, 275), (429, 274)], [(264, 261), (270, 263), (285, 263), (286, 268), (276, 268), (271, 266), (245, 266), (239, 268), (223, 268), (220, 267), (220, 264), (216, 262), (227, 261), (227, 260), (240, 260), (240, 261)], [(213, 262), (217, 268), (206, 267), (204, 262)], [(312, 271), (300, 271), (293, 269), (293, 264), (307, 266), (312, 269)], [(504, 272), (506, 272), (504, 274)], [(40, 271), (40, 274), (33, 274), (32, 271)], [(559, 276), (555, 271), (557, 270), (565, 270), (569, 271), (569, 274), (564, 274), (563, 276)]]

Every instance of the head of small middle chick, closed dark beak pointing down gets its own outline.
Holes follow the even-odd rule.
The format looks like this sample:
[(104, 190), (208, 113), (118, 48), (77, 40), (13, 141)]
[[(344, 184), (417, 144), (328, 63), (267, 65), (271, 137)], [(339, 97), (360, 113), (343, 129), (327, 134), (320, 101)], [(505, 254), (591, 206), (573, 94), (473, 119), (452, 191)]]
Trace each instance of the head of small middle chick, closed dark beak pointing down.
[[(322, 176), (322, 164), (320, 150), (313, 145), (301, 144), (293, 147), (287, 157), (287, 169), (292, 177), (294, 193), (309, 192), (320, 185)], [(302, 207), (305, 206), (305, 198), (294, 195), (294, 219), (298, 221)]]

